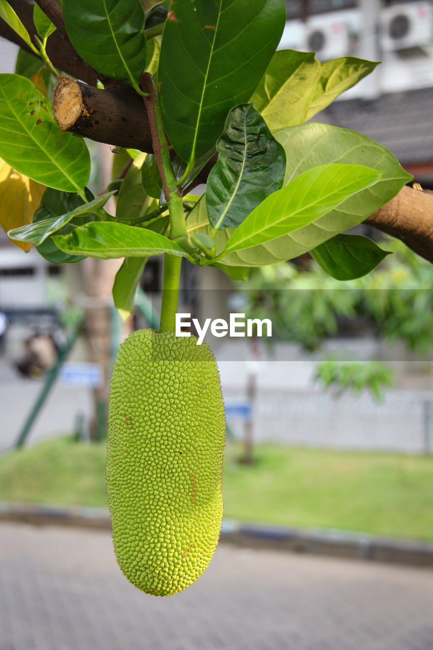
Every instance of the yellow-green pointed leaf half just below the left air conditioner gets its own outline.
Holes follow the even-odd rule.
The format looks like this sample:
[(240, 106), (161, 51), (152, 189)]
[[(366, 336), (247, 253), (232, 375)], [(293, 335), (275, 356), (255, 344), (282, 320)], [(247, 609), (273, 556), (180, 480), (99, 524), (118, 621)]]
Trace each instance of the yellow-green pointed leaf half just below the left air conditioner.
[(379, 62), (354, 57), (332, 59), (322, 63), (321, 77), (316, 85), (315, 96), (305, 121), (312, 118), (319, 110), (326, 109), (342, 92), (367, 77), (378, 64)]

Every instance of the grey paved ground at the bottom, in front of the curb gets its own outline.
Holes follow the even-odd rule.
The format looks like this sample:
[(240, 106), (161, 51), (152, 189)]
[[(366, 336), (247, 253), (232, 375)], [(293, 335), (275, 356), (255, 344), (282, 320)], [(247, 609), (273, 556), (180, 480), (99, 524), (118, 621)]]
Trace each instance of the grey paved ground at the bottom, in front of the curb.
[(0, 650), (433, 650), (433, 572), (220, 546), (155, 598), (107, 532), (0, 525)]

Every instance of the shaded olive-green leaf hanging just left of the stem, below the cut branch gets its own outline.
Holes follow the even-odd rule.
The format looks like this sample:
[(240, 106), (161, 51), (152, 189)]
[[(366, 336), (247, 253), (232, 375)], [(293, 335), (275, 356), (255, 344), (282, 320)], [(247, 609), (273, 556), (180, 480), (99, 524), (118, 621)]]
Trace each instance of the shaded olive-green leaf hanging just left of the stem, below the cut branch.
[(117, 198), (116, 217), (118, 219), (141, 218), (150, 207), (151, 199), (141, 180), (141, 168), (146, 160), (146, 155), (146, 153), (138, 154), (125, 175)]

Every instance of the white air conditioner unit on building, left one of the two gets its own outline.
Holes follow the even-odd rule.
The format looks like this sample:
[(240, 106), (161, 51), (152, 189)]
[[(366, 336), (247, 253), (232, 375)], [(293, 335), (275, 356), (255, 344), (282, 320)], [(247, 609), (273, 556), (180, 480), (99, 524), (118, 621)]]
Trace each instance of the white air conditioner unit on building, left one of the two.
[(341, 20), (326, 23), (309, 21), (305, 27), (302, 49), (315, 52), (321, 61), (347, 56), (350, 51), (347, 24)]

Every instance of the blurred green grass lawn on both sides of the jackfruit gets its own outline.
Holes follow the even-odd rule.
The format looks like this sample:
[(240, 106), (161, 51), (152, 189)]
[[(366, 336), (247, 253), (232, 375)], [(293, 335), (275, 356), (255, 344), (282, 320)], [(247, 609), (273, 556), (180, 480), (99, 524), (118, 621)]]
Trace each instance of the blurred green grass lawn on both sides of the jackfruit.
[[(252, 467), (226, 448), (224, 516), (433, 540), (433, 458), (257, 445)], [(106, 506), (105, 445), (70, 438), (0, 457), (0, 500)]]

